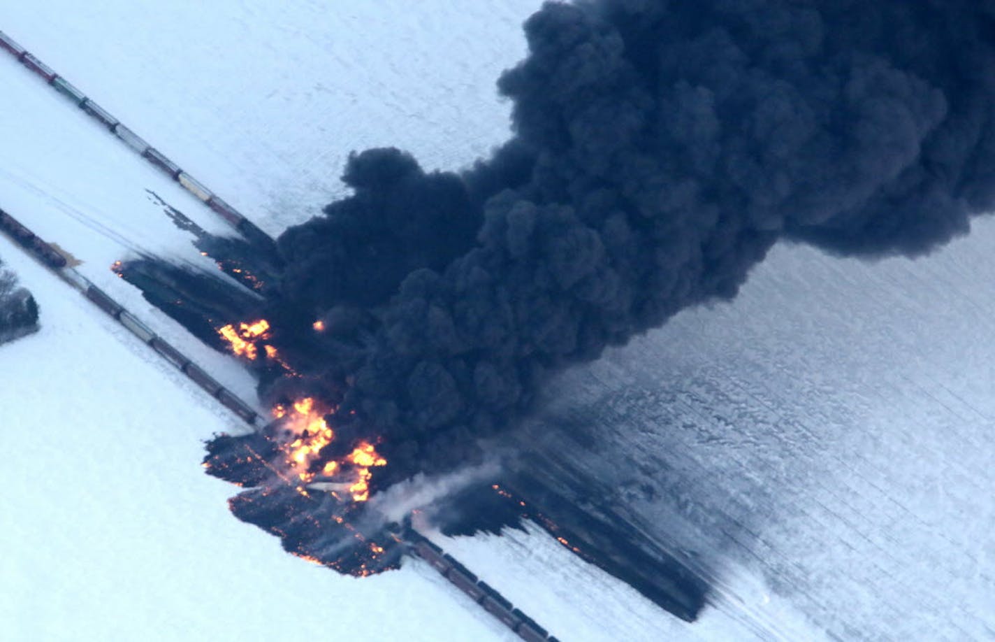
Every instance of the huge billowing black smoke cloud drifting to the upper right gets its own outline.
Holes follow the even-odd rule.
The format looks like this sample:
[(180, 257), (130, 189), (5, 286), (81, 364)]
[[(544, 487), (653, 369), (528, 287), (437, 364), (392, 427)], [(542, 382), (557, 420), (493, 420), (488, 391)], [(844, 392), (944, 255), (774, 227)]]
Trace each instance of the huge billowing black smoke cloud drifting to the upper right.
[(548, 3), (498, 82), (513, 139), (462, 173), (353, 156), (354, 195), (280, 239), (279, 305), (353, 320), (328, 338), (348, 371), (322, 376), (389, 469), (459, 465), (551, 372), (734, 297), (779, 239), (915, 256), (965, 233), (995, 201), (993, 16)]

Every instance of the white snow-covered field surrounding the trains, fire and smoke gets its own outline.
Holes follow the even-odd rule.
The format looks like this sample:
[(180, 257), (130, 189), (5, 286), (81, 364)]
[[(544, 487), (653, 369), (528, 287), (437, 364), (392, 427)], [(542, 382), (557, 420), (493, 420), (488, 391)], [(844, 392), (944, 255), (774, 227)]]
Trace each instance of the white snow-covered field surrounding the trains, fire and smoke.
[[(340, 192), (352, 149), (453, 168), (501, 141), (494, 81), (538, 4), (40, 0), (0, 29), (276, 233)], [(9, 57), (0, 87), (0, 207), (250, 395), (107, 270), (200, 260), (146, 189), (224, 228)], [(696, 624), (545, 535), (440, 543), (563, 640), (995, 638), (993, 248), (991, 222), (917, 262), (778, 248), (734, 304), (563, 377), (537, 427), (586, 426), (576, 458), (722, 582)], [(0, 347), (0, 638), (510, 639), (424, 564), (340, 577), (231, 518), (198, 463), (235, 418), (6, 238), (0, 256), (43, 322)]]

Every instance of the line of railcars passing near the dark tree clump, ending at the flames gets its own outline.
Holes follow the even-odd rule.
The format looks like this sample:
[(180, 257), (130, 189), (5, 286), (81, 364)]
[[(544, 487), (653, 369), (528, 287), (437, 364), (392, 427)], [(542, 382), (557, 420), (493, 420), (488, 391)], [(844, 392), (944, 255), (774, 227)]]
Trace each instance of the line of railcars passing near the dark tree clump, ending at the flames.
[(263, 421), (263, 418), (255, 410), (221, 385), (214, 377), (205, 372), (203, 368), (194, 363), (193, 360), (170, 345), (147, 325), (138, 321), (134, 315), (124, 310), (123, 306), (111, 299), (107, 293), (100, 290), (89, 279), (75, 269), (67, 267), (68, 262), (65, 256), (3, 209), (0, 209), (0, 230), (6, 232), (39, 261), (57, 271), (70, 285), (96, 304), (100, 310), (109, 315), (114, 321), (119, 322), (125, 329), (137, 336), (141, 342), (149, 345), (163, 358), (175, 365), (194, 383), (221, 402), (226, 408), (241, 417), (246, 423), (256, 425)]

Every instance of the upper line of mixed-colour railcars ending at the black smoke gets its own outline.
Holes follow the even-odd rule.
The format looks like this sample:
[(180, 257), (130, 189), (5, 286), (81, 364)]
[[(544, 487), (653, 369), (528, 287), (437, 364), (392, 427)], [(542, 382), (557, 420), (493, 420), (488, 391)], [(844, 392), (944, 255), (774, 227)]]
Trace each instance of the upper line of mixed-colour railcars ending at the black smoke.
[(169, 175), (185, 190), (193, 194), (199, 201), (207, 205), (231, 227), (248, 241), (272, 245), (274, 240), (255, 223), (247, 219), (232, 205), (208, 189), (204, 183), (184, 171), (179, 164), (168, 158), (161, 151), (150, 145), (144, 138), (124, 125), (120, 120), (100, 107), (96, 101), (87, 97), (64, 77), (57, 74), (51, 67), (43, 63), (37, 56), (17, 44), (14, 39), (0, 31), (0, 50), (17, 59), (28, 71), (45, 81), (52, 89), (83, 109), (88, 115), (107, 128), (118, 140), (123, 142), (142, 158), (154, 165), (160, 171)]

